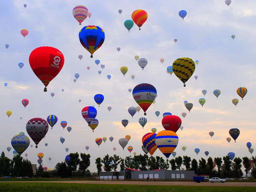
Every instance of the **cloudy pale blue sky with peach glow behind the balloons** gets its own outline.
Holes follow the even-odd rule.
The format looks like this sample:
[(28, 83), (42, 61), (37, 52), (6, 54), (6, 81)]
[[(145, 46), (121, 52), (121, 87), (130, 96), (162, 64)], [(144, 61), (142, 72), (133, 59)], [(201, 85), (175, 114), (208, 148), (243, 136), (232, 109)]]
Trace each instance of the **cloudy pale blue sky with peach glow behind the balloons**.
[[(76, 5), (84, 5), (92, 13), (81, 26), (72, 15)], [(28, 153), (28, 159), (37, 164), (37, 153), (44, 153), (43, 166), (54, 168), (69, 153), (89, 153), (89, 169), (96, 171), (97, 157), (116, 154), (125, 158), (130, 155), (127, 147), (123, 151), (119, 145), (119, 138), (131, 135), (127, 146), (133, 146), (132, 153), (144, 154), (141, 138), (151, 132), (151, 128), (163, 130), (162, 113), (171, 112), (181, 117), (181, 113), (186, 112), (186, 118), (181, 117), (184, 129), (177, 131), (177, 156), (188, 155), (199, 160), (206, 158), (204, 152), (209, 151), (212, 158), (223, 157), (229, 152), (234, 152), (236, 157), (251, 157), (246, 143), (252, 142), (254, 148), (255, 6), (254, 0), (232, 0), (229, 7), (224, 0), (1, 0), (0, 149), (12, 158), (13, 149), (9, 153), (6, 150), (11, 146), (11, 138), (21, 131), (28, 135), (26, 124), (30, 119), (46, 120), (48, 115), (54, 114), (58, 123), (48, 130), (37, 149), (30, 139), (33, 148), (29, 147), (22, 156)], [(119, 9), (123, 10), (121, 14)], [(128, 32), (124, 21), (131, 19), (136, 9), (147, 11), (148, 20), (141, 31), (134, 25)], [(184, 20), (178, 15), (183, 9), (188, 12)], [(93, 59), (78, 38), (78, 32), (87, 25), (99, 26), (105, 32), (105, 41)], [(29, 31), (26, 38), (20, 33), (22, 29)], [(233, 34), (235, 39), (231, 38)], [(173, 41), (175, 38), (177, 43)], [(9, 44), (8, 49), (5, 44)], [(48, 92), (43, 92), (44, 86), (29, 64), (30, 53), (40, 46), (55, 47), (65, 58), (64, 67), (47, 87)], [(117, 47), (121, 48), (120, 52)], [(81, 61), (78, 55), (83, 55)], [(148, 60), (144, 70), (137, 64), (135, 55)], [(186, 87), (174, 74), (166, 73), (166, 67), (181, 57), (199, 60)], [(162, 58), (163, 64), (160, 63)], [(96, 59), (105, 64), (103, 70), (100, 64), (95, 64)], [(18, 66), (20, 62), (24, 63), (22, 69)], [(120, 72), (121, 66), (128, 67), (125, 77)], [(98, 74), (98, 70), (102, 73)], [(74, 83), (75, 73), (80, 77)], [(110, 80), (107, 79), (109, 74)], [(135, 75), (133, 80), (131, 75)], [(194, 75), (198, 76), (197, 80)], [(158, 92), (156, 103), (147, 110), (148, 123), (144, 128), (138, 123), (138, 119), (144, 117), (142, 110), (133, 118), (128, 114), (128, 107), (138, 106), (128, 89), (140, 83), (152, 84)], [(248, 89), (243, 101), (236, 94), (238, 87)], [(204, 89), (206, 96), (201, 93)], [(221, 90), (219, 98), (213, 95), (216, 89)], [(52, 92), (54, 97), (50, 95)], [(105, 97), (100, 107), (94, 101), (96, 94)], [(30, 101), (26, 109), (21, 103), (24, 98)], [(206, 99), (203, 107), (198, 103), (199, 98)], [(231, 102), (233, 98), (239, 99), (236, 107)], [(79, 99), (82, 101), (78, 102)], [(185, 108), (184, 100), (193, 103), (191, 113)], [(83, 107), (92, 105), (96, 106), (99, 120), (94, 132), (81, 115)], [(110, 112), (108, 106), (112, 107)], [(10, 118), (5, 114), (7, 110), (12, 111)], [(159, 117), (155, 111), (160, 111)], [(121, 124), (123, 119), (129, 121), (126, 128)], [(68, 122), (67, 126), (72, 128), (70, 133), (63, 130), (61, 121)], [(230, 128), (240, 129), (236, 143), (226, 141)], [(209, 131), (215, 132), (212, 138)], [(61, 136), (65, 138), (64, 144), (60, 142)], [(108, 139), (98, 147), (95, 139), (104, 136), (113, 136), (113, 142)], [(88, 152), (85, 146), (90, 147)], [(187, 147), (185, 152), (183, 146)], [(64, 150), (66, 147), (68, 153)], [(113, 147), (117, 148), (115, 152)], [(195, 148), (200, 149), (198, 155)], [(165, 159), (160, 150), (153, 156)]]

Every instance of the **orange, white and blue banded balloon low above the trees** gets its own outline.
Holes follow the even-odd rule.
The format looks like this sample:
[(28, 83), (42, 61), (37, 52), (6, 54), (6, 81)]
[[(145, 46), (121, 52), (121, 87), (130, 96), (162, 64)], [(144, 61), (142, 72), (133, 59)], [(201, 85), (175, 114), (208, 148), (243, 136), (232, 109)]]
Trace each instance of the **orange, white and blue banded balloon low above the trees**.
[(170, 157), (178, 142), (178, 135), (171, 130), (162, 130), (156, 135), (156, 145), (166, 158)]

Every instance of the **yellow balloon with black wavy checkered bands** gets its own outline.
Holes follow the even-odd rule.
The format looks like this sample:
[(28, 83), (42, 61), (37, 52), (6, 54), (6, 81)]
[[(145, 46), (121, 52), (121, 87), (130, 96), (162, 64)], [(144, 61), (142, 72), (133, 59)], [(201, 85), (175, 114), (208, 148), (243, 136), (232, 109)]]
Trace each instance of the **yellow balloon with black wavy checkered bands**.
[(172, 64), (174, 74), (184, 83), (190, 79), (195, 69), (195, 64), (190, 58), (179, 58)]

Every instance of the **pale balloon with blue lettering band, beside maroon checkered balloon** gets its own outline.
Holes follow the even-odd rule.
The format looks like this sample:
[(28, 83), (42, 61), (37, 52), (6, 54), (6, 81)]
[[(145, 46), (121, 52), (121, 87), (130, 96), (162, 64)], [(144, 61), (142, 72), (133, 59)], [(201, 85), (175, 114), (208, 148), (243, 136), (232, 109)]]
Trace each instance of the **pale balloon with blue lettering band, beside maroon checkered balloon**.
[(25, 134), (17, 134), (12, 137), (11, 145), (13, 149), (21, 155), (29, 147), (30, 139)]

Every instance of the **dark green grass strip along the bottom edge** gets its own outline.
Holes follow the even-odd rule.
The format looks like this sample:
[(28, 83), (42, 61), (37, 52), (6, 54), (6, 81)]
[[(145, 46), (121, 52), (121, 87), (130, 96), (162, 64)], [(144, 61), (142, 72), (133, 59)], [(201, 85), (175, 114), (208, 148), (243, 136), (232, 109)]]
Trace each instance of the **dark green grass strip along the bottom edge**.
[(0, 183), (0, 192), (256, 192), (256, 187)]

